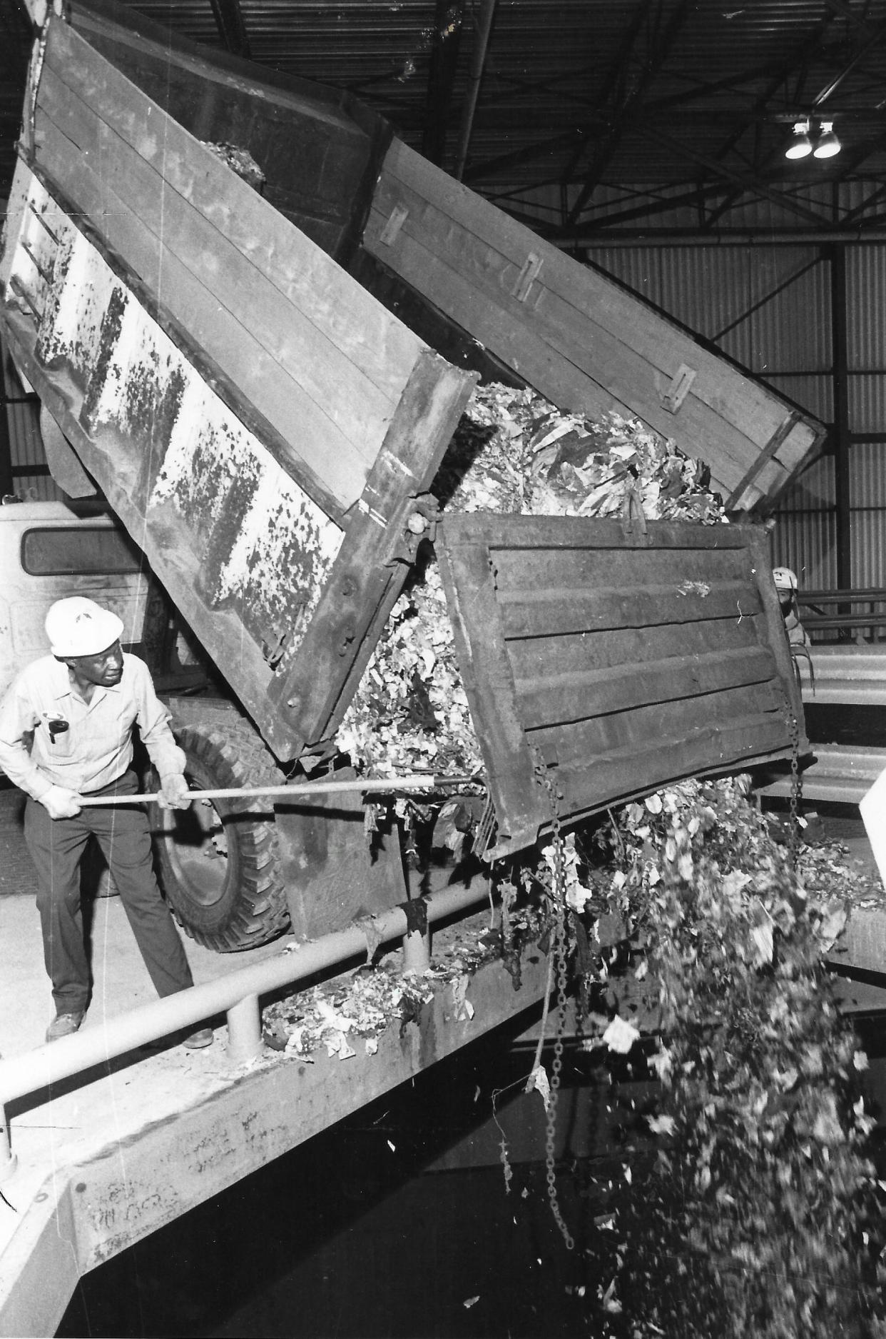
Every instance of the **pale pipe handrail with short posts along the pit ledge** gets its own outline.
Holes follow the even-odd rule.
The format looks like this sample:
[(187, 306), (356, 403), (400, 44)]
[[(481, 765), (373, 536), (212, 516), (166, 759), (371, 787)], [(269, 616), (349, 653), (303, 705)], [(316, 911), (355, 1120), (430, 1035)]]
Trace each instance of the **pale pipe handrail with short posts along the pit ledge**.
[[(428, 924), (480, 902), (489, 902), (487, 888), (458, 886), (432, 893), (426, 898)], [(408, 927), (403, 907), (392, 907), (375, 915), (372, 928), (379, 935), (380, 944), (406, 936)], [(308, 944), (298, 944), (292, 951), (284, 951), (277, 957), (256, 963), (253, 967), (240, 968), (215, 981), (193, 986), (151, 1004), (143, 1004), (128, 1014), (110, 1019), (102, 1027), (87, 1028), (59, 1038), (58, 1042), (37, 1046), (25, 1055), (0, 1060), (0, 1181), (9, 1177), (16, 1168), (5, 1117), (7, 1102), (74, 1074), (82, 1074), (95, 1065), (103, 1065), (170, 1032), (202, 1023), (222, 1010), (228, 1014), (229, 1058), (234, 1063), (254, 1059), (262, 1051), (260, 995), (268, 995), (282, 986), (293, 986), (316, 972), (337, 967), (367, 952), (364, 929), (351, 925)]]

